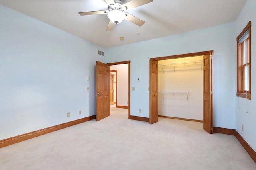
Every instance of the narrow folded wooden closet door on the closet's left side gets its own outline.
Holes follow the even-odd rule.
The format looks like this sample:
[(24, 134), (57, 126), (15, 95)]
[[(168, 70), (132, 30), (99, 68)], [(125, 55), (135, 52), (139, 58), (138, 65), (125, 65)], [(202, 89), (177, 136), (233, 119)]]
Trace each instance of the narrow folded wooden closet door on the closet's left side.
[(150, 114), (149, 123), (158, 121), (158, 61), (150, 59)]

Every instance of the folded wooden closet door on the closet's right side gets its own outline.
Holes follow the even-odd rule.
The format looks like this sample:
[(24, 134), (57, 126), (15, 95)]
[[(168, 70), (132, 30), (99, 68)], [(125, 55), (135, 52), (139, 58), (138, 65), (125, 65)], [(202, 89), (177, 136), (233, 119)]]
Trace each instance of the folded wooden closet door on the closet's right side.
[(208, 133), (213, 133), (213, 87), (212, 87), (212, 55), (204, 55), (204, 96), (203, 96), (203, 109), (204, 109), (204, 130)]

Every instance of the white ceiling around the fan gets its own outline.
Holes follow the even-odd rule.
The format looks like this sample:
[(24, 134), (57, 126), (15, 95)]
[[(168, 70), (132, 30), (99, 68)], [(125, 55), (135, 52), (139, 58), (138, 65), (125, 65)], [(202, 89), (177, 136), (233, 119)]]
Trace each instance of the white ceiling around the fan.
[[(4, 6), (106, 48), (233, 22), (245, 2), (246, 0), (153, 0), (127, 11), (146, 21), (142, 27), (124, 20), (112, 31), (106, 31), (109, 22), (106, 14), (78, 14), (107, 10), (108, 5), (104, 0), (0, 0)], [(124, 37), (124, 41), (120, 41), (119, 37)]]

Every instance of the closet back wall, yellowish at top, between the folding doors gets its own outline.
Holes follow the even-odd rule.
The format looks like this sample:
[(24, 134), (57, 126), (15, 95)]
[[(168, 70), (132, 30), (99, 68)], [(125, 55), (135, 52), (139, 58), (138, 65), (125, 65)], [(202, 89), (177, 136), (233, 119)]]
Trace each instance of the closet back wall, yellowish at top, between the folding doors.
[[(203, 120), (202, 60), (196, 56), (158, 61), (158, 115)], [(176, 63), (175, 70), (173, 65), (161, 66), (168, 63)]]

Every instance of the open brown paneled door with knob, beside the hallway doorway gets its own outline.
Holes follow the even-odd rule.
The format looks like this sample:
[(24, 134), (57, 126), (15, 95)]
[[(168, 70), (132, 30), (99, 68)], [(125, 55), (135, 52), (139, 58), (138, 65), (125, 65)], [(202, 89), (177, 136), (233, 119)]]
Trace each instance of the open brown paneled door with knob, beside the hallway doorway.
[(96, 61), (97, 121), (110, 115), (110, 66)]

